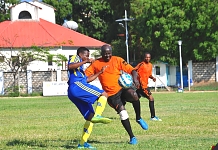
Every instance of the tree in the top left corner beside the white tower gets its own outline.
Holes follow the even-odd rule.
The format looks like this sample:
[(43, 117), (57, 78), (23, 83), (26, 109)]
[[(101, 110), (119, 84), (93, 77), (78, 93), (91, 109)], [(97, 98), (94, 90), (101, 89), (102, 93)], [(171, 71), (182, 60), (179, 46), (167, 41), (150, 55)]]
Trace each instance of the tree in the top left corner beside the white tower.
[(9, 20), (10, 9), (9, 7), (17, 4), (19, 0), (0, 0), (0, 22)]

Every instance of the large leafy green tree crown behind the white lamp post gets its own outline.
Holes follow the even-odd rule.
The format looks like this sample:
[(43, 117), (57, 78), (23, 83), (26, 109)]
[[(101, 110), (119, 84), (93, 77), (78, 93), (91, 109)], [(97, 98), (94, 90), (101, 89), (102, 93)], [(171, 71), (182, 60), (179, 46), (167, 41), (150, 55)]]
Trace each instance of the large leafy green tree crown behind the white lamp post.
[(136, 0), (131, 3), (135, 35), (132, 43), (154, 59), (178, 63), (178, 40), (183, 41), (183, 62), (205, 61), (218, 53), (217, 2), (215, 0)]

